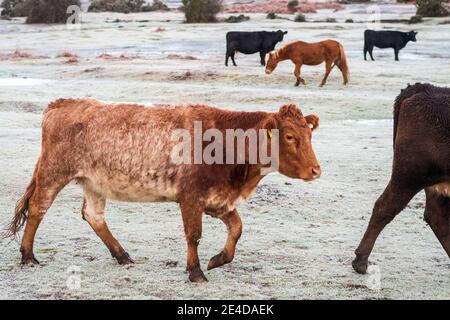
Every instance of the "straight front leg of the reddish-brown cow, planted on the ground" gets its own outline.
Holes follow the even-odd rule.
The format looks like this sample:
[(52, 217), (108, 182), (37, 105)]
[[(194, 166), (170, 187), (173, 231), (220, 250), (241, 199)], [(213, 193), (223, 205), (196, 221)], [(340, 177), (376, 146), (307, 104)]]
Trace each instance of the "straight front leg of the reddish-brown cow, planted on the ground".
[(202, 214), (203, 208), (194, 202), (182, 201), (180, 203), (181, 215), (183, 216), (184, 233), (187, 241), (187, 271), (191, 282), (206, 282), (205, 275), (200, 268), (198, 258), (198, 244), (202, 237)]

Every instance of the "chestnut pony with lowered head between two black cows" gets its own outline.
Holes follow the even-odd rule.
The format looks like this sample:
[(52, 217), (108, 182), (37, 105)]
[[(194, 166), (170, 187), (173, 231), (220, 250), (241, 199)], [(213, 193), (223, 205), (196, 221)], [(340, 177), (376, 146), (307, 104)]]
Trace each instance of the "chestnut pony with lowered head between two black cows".
[(347, 57), (344, 47), (337, 41), (325, 40), (316, 43), (303, 41), (292, 42), (279, 50), (269, 53), (269, 61), (266, 66), (266, 73), (271, 74), (280, 61), (291, 59), (295, 64), (294, 75), (297, 78), (295, 86), (300, 83), (306, 84), (300, 76), (302, 65), (316, 66), (325, 61), (325, 76), (320, 86), (324, 86), (334, 66), (342, 72), (344, 85), (348, 83), (350, 72), (348, 70)]

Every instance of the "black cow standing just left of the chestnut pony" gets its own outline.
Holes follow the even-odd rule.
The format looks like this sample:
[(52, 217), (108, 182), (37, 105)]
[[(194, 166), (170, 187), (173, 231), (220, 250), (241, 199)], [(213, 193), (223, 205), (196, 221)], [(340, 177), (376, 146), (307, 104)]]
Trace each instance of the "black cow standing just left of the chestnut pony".
[(233, 65), (236, 66), (234, 55), (236, 52), (244, 54), (253, 54), (259, 52), (261, 56), (261, 65), (266, 65), (266, 54), (275, 49), (278, 42), (283, 41), (287, 31), (256, 31), (240, 32), (231, 31), (227, 33), (227, 53), (225, 65), (228, 66), (228, 59), (231, 57)]

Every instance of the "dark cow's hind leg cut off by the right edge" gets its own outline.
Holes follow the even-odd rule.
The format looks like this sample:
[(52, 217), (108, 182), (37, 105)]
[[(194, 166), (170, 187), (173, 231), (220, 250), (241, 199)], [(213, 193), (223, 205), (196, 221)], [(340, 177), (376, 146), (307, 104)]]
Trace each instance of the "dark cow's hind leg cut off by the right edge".
[(450, 198), (426, 190), (425, 221), (450, 257)]

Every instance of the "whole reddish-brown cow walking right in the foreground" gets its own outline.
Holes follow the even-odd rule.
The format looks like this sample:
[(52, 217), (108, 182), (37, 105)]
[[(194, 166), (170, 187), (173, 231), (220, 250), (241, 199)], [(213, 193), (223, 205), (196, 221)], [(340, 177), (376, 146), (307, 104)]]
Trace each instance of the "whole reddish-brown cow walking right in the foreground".
[(263, 178), (264, 167), (247, 161), (174, 164), (171, 134), (180, 128), (192, 132), (197, 121), (202, 121), (204, 129), (221, 131), (266, 129), (267, 140), (278, 129), (279, 172), (304, 180), (320, 176), (311, 146), (311, 131), (317, 128), (319, 118), (303, 117), (294, 105), (266, 113), (60, 99), (44, 112), (41, 154), (9, 228), (9, 235), (14, 236), (26, 222), (22, 263), (38, 263), (33, 254), (36, 230), (58, 192), (72, 180), (84, 190), (83, 218), (120, 264), (133, 261), (108, 229), (104, 218), (106, 199), (178, 202), (191, 281), (206, 281), (197, 255), (203, 212), (221, 219), (228, 229), (225, 247), (209, 261), (208, 269), (231, 262), (242, 230), (235, 206), (254, 191)]

